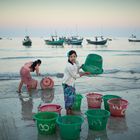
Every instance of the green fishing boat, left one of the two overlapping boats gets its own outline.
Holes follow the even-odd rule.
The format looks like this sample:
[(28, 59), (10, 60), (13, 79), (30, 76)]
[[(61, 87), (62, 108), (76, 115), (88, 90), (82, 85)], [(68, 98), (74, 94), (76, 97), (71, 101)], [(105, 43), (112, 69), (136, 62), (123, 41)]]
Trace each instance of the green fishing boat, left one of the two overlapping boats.
[(63, 45), (64, 39), (57, 38), (57, 36), (52, 36), (51, 40), (44, 40), (47, 45)]

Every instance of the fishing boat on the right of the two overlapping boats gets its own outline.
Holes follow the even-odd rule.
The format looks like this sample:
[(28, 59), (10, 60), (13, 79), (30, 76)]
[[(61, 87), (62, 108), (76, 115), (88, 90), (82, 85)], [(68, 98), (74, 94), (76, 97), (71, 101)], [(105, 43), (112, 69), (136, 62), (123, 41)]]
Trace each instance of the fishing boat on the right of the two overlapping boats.
[(68, 45), (81, 45), (83, 42), (83, 38), (79, 38), (78, 36), (72, 36), (65, 40)]

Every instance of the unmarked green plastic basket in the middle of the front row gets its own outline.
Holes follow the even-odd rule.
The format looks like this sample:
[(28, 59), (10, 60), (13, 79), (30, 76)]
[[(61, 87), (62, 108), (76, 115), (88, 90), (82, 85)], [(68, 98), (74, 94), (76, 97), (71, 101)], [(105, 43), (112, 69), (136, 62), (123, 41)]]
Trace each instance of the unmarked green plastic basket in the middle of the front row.
[(59, 125), (60, 136), (64, 140), (77, 140), (80, 137), (81, 125), (84, 119), (80, 116), (62, 116), (56, 122)]

